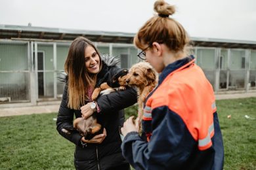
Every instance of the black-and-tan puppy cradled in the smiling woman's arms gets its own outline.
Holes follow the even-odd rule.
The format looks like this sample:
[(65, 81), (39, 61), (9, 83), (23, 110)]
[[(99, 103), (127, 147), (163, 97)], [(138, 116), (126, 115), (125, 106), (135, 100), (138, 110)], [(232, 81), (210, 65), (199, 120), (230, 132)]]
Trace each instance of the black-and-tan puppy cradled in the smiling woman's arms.
[[(111, 81), (104, 82), (100, 84), (100, 87), (95, 88), (93, 91), (93, 94), (91, 96), (91, 99), (95, 101), (95, 99), (98, 97), (98, 95), (106, 95), (110, 92), (114, 92), (115, 88), (118, 88), (118, 90), (125, 90), (126, 89), (126, 75), (128, 73), (127, 69), (122, 69), (112, 77)], [(79, 133), (85, 137), (85, 139), (91, 139), (96, 134), (101, 133), (100, 129), (102, 129), (102, 126), (98, 124), (96, 119), (96, 114), (92, 114), (92, 116), (89, 116), (89, 118), (76, 118), (74, 120), (74, 128), (79, 131)]]

